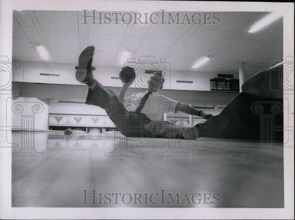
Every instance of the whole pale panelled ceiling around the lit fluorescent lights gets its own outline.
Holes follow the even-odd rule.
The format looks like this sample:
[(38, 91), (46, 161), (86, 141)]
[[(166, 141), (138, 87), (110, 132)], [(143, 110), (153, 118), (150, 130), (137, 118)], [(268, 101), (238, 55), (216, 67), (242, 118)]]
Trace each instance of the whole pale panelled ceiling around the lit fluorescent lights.
[[(187, 14), (190, 17), (193, 13)], [(180, 12), (180, 22), (183, 14)], [(129, 50), (136, 61), (140, 56), (155, 56), (156, 62), (165, 58), (173, 70), (237, 73), (239, 61), (245, 61), (245, 68), (253, 70), (269, 65), (273, 58), (282, 57), (282, 19), (263, 30), (248, 33), (249, 28), (266, 14), (220, 12), (217, 25), (127, 25), (123, 22), (114, 24), (114, 20), (111, 24), (83, 24), (81, 11), (14, 11), (13, 56), (41, 62), (33, 45), (43, 43), (50, 54), (50, 60), (46, 62), (77, 64), (81, 51), (93, 45), (95, 66), (121, 66), (118, 57), (122, 51)], [(161, 13), (159, 15), (161, 20)], [(173, 12), (173, 19), (175, 15)], [(96, 19), (98, 17), (96, 14)], [(168, 17), (165, 19), (168, 22)], [(194, 62), (205, 55), (213, 57), (198, 69), (192, 69)]]

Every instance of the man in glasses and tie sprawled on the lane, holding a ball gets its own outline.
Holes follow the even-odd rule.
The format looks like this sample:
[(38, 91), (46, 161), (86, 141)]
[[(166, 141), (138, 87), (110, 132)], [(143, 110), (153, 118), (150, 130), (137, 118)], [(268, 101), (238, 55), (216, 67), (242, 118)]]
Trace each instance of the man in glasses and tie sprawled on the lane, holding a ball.
[[(133, 102), (133, 99), (135, 101), (133, 110), (128, 111), (125, 109), (122, 102), (125, 89), (122, 89), (123, 91), (120, 93), (119, 99), (114, 92), (105, 88), (94, 79), (91, 68), (93, 54), (93, 46), (89, 46), (83, 50), (79, 56), (79, 66), (76, 71), (76, 79), (89, 86), (86, 104), (96, 105), (105, 109), (118, 131), (120, 131), (124, 136), (196, 139), (210, 133), (218, 132), (224, 128), (224, 120), (222, 120), (222, 118), (206, 115), (190, 106), (186, 106), (189, 109), (186, 113), (199, 115), (208, 119), (204, 125), (200, 127), (192, 126), (182, 128), (167, 121), (160, 120), (162, 119), (161, 117), (163, 113), (156, 113), (157, 116), (154, 117), (153, 112), (148, 112), (148, 107), (146, 107), (145, 102), (147, 102), (149, 98), (151, 101), (153, 100), (152, 97), (149, 97), (150, 95), (157, 95), (160, 99), (168, 101), (168, 103), (171, 103), (171, 109), (174, 111), (181, 109), (179, 108), (181, 105), (179, 102), (174, 100), (171, 101), (168, 97), (155, 93), (163, 87), (164, 82), (163, 76), (158, 73), (153, 74), (148, 81), (148, 91), (145, 94), (135, 94), (135, 96), (132, 95), (127, 98), (127, 100), (129, 99), (131, 102)], [(131, 82), (124, 84), (124, 86), (129, 87), (130, 84)], [(145, 115), (145, 113), (147, 115)]]

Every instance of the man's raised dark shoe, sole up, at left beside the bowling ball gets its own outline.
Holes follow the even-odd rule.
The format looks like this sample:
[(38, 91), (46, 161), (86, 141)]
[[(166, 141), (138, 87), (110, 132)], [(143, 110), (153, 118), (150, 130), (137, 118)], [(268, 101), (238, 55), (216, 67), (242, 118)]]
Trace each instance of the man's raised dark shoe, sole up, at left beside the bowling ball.
[(79, 56), (79, 66), (76, 70), (76, 79), (83, 82), (87, 75), (87, 63), (92, 59), (94, 54), (94, 47), (86, 47)]

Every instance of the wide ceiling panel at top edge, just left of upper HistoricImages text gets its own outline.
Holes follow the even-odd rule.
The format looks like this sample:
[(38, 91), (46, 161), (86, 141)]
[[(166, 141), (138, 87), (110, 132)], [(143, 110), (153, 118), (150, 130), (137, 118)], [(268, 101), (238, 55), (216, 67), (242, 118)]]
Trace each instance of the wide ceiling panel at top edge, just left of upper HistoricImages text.
[(34, 11), (41, 28), (78, 31), (76, 11)]

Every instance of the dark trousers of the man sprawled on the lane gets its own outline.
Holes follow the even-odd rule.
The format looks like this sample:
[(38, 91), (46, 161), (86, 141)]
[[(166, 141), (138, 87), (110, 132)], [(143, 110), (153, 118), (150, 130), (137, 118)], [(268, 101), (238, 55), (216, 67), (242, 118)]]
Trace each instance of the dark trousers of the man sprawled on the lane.
[(86, 104), (96, 105), (106, 110), (109, 118), (124, 136), (179, 138), (180, 126), (167, 121), (150, 120), (142, 113), (129, 113), (117, 95), (97, 81), (95, 87), (88, 90)]

